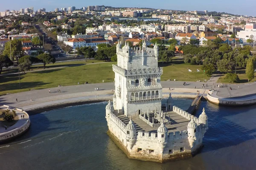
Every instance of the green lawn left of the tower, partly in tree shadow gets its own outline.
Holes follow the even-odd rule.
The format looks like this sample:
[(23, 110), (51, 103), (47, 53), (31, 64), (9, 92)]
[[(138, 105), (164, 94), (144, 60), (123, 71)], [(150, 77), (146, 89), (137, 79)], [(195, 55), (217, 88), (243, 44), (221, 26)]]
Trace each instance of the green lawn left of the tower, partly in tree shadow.
[[(29, 91), (29, 89), (57, 87), (58, 85), (77, 85), (78, 82), (100, 83), (102, 80), (113, 82), (112, 64), (113, 62), (85, 65), (85, 61), (49, 64), (47, 65), (48, 69), (20, 74), (20, 89), (18, 74), (2, 75), (0, 77), (0, 95)], [(55, 69), (50, 69), (52, 67)]]

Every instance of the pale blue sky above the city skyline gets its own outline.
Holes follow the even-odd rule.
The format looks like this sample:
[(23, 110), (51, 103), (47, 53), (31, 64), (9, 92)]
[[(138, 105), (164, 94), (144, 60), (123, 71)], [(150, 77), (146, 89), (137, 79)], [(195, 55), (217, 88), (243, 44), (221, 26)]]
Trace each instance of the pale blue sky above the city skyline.
[(256, 0), (10, 0), (4, 1), (0, 6), (0, 11), (19, 10), (20, 8), (34, 7), (34, 10), (46, 8), (46, 11), (54, 11), (55, 8), (76, 6), (80, 9), (84, 6), (105, 5), (113, 7), (139, 7), (160, 8), (184, 11), (217, 11), (231, 14), (256, 16)]

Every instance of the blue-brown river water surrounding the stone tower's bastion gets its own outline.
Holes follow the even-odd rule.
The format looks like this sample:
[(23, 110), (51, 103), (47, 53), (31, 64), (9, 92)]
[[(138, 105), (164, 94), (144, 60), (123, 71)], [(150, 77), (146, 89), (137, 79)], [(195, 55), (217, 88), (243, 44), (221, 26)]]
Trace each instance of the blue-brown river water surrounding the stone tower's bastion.
[[(174, 99), (186, 109), (191, 99)], [(0, 145), (2, 170), (244, 170), (256, 169), (256, 106), (223, 107), (201, 102), (209, 130), (193, 158), (164, 164), (128, 159), (109, 139), (107, 102), (30, 116), (29, 131)]]

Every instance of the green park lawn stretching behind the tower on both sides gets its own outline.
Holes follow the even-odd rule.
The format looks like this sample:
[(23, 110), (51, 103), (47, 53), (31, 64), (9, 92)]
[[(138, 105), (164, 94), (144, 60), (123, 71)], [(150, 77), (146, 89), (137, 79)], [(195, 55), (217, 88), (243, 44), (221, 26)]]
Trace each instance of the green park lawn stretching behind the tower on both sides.
[[(33, 70), (41, 69), (36, 72), (28, 72), (26, 74), (20, 74), (20, 86), (18, 74), (3, 75), (0, 77), (0, 95), (6, 93), (17, 93), (21, 91), (29, 91), (29, 89), (43, 89), (57, 87), (58, 85), (77, 85), (84, 82), (89, 83), (101, 83), (113, 82), (114, 73), (112, 71), (112, 64), (116, 62), (105, 62), (99, 64), (86, 65), (91, 62), (102, 62), (98, 60), (87, 60), (83, 61), (73, 61), (73, 62), (60, 62), (55, 64), (47, 64), (45, 70), (42, 69), (43, 65), (35, 65), (32, 67)], [(56, 68), (62, 67), (63, 68)], [(180, 57), (175, 57), (172, 63), (162, 63), (159, 62), (159, 66), (163, 67), (163, 75), (161, 77), (162, 81), (168, 79), (176, 79), (176, 81), (197, 81), (204, 79), (209, 79), (201, 69), (201, 65), (193, 65), (190, 63), (184, 63)], [(48, 69), (55, 68), (55, 69)], [(192, 70), (189, 72), (188, 69)], [(197, 69), (200, 72), (197, 72)], [(17, 71), (17, 69), (12, 69), (9, 71), (4, 71), (3, 74)], [(246, 80), (246, 75), (244, 70), (237, 70), (239, 73), (239, 78), (241, 82)], [(222, 77), (220, 81), (225, 82)], [(253, 81), (256, 81), (254, 79)]]

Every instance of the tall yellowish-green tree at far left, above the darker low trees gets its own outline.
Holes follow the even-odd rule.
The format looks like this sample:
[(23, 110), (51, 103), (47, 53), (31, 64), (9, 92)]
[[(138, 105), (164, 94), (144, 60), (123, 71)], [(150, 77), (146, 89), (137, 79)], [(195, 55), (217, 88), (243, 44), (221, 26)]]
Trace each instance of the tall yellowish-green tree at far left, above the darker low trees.
[[(11, 53), (12, 53), (12, 58), (10, 58), (10, 43), (11, 43)], [(7, 55), (12, 61), (16, 58), (22, 57), (23, 50), (22, 50), (22, 43), (20, 40), (11, 40), (9, 42), (6, 42), (3, 55)]]

